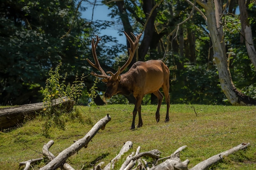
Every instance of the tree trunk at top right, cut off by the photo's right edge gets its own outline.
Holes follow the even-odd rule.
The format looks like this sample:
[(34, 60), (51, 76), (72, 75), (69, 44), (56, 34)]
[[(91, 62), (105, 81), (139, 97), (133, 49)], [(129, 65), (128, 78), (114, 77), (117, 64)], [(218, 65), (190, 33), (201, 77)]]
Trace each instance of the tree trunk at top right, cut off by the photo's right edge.
[(248, 13), (246, 10), (245, 0), (238, 0), (239, 10), (240, 10), (240, 21), (241, 21), (241, 41), (245, 39), (245, 45), (247, 53), (249, 55), (254, 69), (256, 70), (256, 51), (254, 48), (254, 43), (252, 39), (252, 28), (248, 20)]

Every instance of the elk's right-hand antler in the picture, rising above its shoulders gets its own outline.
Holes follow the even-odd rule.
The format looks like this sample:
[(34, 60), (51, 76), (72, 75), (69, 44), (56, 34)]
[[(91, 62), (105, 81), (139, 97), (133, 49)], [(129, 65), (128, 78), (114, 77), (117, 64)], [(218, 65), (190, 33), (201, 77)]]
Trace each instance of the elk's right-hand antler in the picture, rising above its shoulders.
[(126, 61), (126, 63), (121, 68), (120, 68), (120, 66), (118, 66), (118, 70), (117, 70), (117, 72), (115, 74), (112, 73), (112, 72), (107, 72), (107, 74), (111, 74), (112, 78), (115, 78), (115, 79), (132, 62), (132, 59), (134, 57), (135, 51), (137, 49), (137, 46), (139, 45), (139, 39), (140, 39), (140, 37), (142, 35), (142, 33), (140, 33), (139, 35), (137, 34), (137, 36), (135, 36), (133, 33), (131, 33), (132, 37), (134, 37), (134, 39), (135, 39), (135, 41), (133, 42), (132, 39), (129, 37), (129, 35), (126, 32), (124, 32), (124, 34), (125, 34), (126, 38), (128, 39), (128, 41), (130, 43), (130, 48), (128, 48), (130, 54), (129, 54), (129, 58)]

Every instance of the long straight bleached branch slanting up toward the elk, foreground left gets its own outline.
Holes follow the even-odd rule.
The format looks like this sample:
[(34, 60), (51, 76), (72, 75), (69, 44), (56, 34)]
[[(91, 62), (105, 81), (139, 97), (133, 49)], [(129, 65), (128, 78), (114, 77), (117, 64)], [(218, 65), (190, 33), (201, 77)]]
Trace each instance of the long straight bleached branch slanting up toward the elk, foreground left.
[(50, 161), (46, 166), (40, 168), (40, 170), (55, 170), (60, 167), (70, 156), (77, 153), (81, 148), (87, 147), (88, 143), (97, 134), (100, 129), (104, 129), (106, 124), (111, 120), (107, 114), (104, 118), (99, 120), (92, 129), (81, 139), (72, 144), (69, 148), (63, 150), (57, 157)]

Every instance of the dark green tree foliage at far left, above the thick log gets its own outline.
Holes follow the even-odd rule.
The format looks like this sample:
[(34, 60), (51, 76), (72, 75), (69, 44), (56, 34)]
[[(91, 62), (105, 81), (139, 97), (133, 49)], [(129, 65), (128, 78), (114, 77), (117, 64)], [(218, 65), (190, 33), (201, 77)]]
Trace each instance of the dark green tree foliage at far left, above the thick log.
[[(59, 62), (63, 63), (63, 72), (68, 72), (70, 82), (74, 81), (77, 70), (86, 73), (81, 60), (90, 54), (90, 41), (84, 41), (90, 29), (84, 28), (85, 20), (75, 9), (75, 1), (4, 1), (0, 8), (2, 105), (39, 102), (42, 96), (38, 91), (47, 79), (47, 72)], [(72, 31), (60, 39), (73, 19)], [(56, 88), (51, 95), (58, 96), (59, 92)]]

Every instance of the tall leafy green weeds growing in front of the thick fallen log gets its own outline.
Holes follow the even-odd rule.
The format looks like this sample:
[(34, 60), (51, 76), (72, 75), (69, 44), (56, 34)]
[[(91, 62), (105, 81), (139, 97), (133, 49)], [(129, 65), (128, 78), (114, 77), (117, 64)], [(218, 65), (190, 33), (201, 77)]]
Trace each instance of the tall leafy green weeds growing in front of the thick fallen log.
[(55, 70), (53, 70), (53, 68), (50, 69), (48, 73), (49, 78), (47, 78), (45, 82), (45, 87), (41, 88), (45, 108), (40, 112), (40, 116), (42, 116), (44, 120), (42, 130), (43, 135), (46, 137), (49, 137), (49, 129), (51, 126), (65, 130), (66, 120), (63, 114), (68, 110), (66, 107), (70, 106), (64, 106), (62, 103), (56, 105), (57, 99), (66, 96), (67, 100), (74, 102), (74, 110), (76, 110), (76, 105), (84, 86), (84, 75), (79, 79), (78, 73), (76, 73), (75, 81), (72, 84), (66, 84), (67, 73), (65, 76), (61, 76), (59, 73), (61, 64), (62, 63), (59, 63)]

